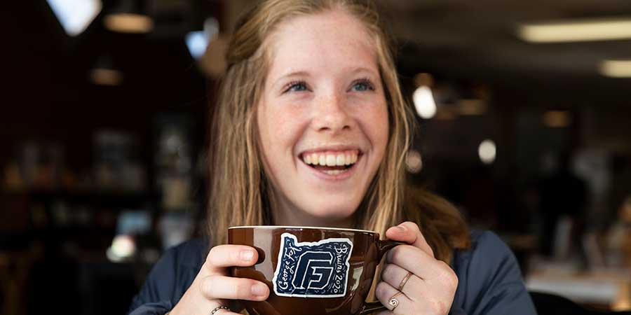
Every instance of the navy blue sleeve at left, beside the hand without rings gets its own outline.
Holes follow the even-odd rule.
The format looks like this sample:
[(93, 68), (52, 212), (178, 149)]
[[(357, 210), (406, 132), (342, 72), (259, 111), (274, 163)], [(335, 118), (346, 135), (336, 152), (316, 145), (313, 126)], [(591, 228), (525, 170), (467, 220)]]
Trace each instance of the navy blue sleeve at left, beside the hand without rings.
[(170, 248), (156, 262), (128, 315), (165, 315), (191, 286), (201, 267), (198, 242)]

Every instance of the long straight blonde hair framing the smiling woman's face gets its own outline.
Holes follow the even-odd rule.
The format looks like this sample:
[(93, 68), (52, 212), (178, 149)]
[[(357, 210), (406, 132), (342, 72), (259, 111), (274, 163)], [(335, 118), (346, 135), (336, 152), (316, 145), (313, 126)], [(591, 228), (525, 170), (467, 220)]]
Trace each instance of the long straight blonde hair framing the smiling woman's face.
[(360, 0), (262, 1), (238, 22), (213, 114), (207, 231), (210, 244), (225, 244), (230, 226), (273, 224), (271, 183), (262, 163), (255, 106), (269, 69), (265, 41), (280, 23), (292, 17), (327, 10), (344, 10), (365, 25), (386, 87), (386, 154), (355, 212), (355, 228), (373, 230), (384, 237), (391, 226), (413, 221), (421, 227), (436, 258), (449, 263), (453, 248), (468, 246), (466, 225), (458, 211), (442, 198), (424, 190), (413, 192), (406, 186), (404, 163), (412, 138), (412, 116), (400, 92), (389, 36), (381, 27), (374, 3)]

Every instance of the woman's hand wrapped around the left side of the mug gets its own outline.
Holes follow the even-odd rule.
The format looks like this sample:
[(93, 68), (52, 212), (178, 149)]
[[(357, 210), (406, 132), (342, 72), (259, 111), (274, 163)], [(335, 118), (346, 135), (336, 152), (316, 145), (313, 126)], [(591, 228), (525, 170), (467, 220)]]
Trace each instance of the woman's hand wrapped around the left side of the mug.
[(231, 300), (262, 301), (269, 296), (265, 283), (229, 276), (231, 266), (252, 266), (259, 255), (255, 248), (243, 245), (219, 245), (210, 250), (191, 286), (169, 315), (208, 315), (220, 305), (217, 315), (240, 315), (243, 306)]

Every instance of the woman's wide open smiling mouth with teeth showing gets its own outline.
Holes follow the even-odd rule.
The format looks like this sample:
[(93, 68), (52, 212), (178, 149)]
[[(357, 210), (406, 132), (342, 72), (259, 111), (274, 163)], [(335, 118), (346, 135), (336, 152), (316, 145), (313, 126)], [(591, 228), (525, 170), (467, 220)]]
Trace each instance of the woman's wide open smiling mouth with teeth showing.
[(309, 167), (325, 174), (337, 175), (348, 172), (360, 156), (358, 150), (347, 150), (303, 153), (300, 158)]

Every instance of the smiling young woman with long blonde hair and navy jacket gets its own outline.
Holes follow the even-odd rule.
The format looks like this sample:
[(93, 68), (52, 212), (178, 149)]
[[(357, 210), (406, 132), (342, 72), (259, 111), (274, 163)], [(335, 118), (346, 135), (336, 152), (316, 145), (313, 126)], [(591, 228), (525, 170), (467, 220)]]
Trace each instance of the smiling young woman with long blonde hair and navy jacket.
[(238, 300), (266, 300), (265, 283), (229, 276), (257, 261), (254, 248), (226, 245), (238, 225), (360, 228), (407, 243), (381, 268), (381, 314), (536, 314), (506, 244), (408, 189), (412, 120), (381, 23), (358, 0), (263, 1), (240, 20), (212, 125), (208, 239), (167, 251), (130, 314), (227, 315)]

